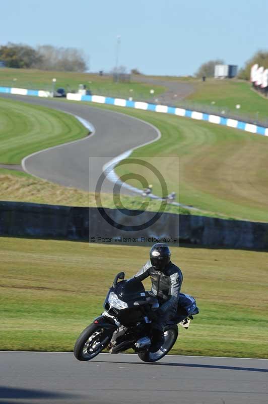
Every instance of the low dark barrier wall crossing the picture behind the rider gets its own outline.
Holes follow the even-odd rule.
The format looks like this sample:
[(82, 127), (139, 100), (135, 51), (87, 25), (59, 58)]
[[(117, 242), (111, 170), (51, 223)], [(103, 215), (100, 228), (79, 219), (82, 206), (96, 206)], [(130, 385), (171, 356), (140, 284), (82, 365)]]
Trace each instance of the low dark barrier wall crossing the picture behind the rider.
[[(136, 226), (137, 216), (129, 211), (106, 210), (114, 222), (127, 220)], [(128, 213), (126, 215), (125, 213)], [(146, 212), (151, 219), (155, 212)], [(88, 241), (90, 236), (176, 238), (180, 242), (229, 248), (268, 249), (268, 223), (223, 220), (204, 216), (164, 213), (150, 228), (139, 234), (121, 231), (108, 224), (97, 208), (74, 208), (66, 206), (39, 205), (0, 201), (0, 236), (62, 238)], [(120, 227), (120, 226), (119, 226)], [(142, 241), (142, 240), (141, 240)]]

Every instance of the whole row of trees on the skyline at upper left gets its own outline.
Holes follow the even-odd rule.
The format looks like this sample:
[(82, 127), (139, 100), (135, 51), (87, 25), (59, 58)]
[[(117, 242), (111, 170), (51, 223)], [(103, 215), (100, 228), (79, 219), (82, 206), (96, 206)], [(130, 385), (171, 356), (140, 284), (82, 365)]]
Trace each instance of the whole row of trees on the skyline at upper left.
[(6, 67), (13, 68), (68, 72), (85, 72), (88, 69), (83, 51), (52, 45), (38, 45), (33, 48), (22, 43), (9, 42), (0, 46), (0, 61)]

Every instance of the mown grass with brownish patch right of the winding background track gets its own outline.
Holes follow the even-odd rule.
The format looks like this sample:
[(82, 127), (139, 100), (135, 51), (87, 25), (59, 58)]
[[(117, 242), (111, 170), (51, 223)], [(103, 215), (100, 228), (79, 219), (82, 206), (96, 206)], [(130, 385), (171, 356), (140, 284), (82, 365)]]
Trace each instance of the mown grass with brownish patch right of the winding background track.
[[(179, 159), (181, 204), (192, 205), (206, 215), (268, 221), (266, 137), (172, 115), (90, 105), (143, 119), (161, 131), (161, 139), (136, 149), (131, 157), (145, 160), (153, 157), (159, 162), (166, 159), (161, 173), (169, 191), (178, 188), (173, 163), (177, 167)], [(143, 174), (143, 167), (137, 172)], [(124, 173), (127, 171), (118, 169), (119, 175)], [(161, 194), (158, 181), (153, 178), (150, 181), (155, 193)]]

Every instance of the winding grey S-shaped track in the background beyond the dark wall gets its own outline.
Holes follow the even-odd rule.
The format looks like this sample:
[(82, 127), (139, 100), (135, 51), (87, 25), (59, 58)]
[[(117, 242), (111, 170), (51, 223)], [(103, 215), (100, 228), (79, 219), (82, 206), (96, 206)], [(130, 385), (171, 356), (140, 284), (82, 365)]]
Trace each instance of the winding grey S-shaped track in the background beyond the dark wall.
[[(25, 161), (29, 173), (65, 186), (95, 191), (105, 163), (128, 149), (153, 141), (158, 136), (157, 130), (144, 121), (85, 104), (11, 94), (1, 94), (1, 97), (66, 111), (86, 119), (95, 127), (94, 135), (42, 151)], [(89, 157), (93, 158), (91, 164)], [(112, 189), (113, 184), (108, 180), (104, 181), (102, 191), (112, 192)], [(127, 189), (122, 189), (122, 192), (131, 193)]]

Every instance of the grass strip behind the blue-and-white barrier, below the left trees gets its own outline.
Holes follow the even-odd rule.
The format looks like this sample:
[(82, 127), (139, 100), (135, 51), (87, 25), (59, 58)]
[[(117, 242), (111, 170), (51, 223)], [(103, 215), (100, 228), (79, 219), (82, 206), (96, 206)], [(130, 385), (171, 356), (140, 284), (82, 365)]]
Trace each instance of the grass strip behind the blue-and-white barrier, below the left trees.
[[(66, 91), (78, 90), (79, 84), (86, 84), (92, 94), (115, 97), (133, 97), (134, 99), (150, 98), (150, 90), (154, 95), (165, 91), (165, 87), (131, 81), (130, 83), (114, 83), (111, 76), (98, 76), (91, 73), (53, 72), (37, 69), (1, 69), (0, 86), (20, 87), (37, 90), (52, 90), (52, 78), (56, 78), (55, 88), (63, 87)], [(17, 80), (14, 80), (17, 79)]]

